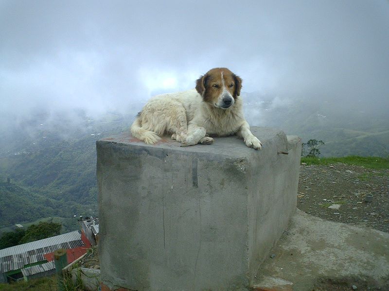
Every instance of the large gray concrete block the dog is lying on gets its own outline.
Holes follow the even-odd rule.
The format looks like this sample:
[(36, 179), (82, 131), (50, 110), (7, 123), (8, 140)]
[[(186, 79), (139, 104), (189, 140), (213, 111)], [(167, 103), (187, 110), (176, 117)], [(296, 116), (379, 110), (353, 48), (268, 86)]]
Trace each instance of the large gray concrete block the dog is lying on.
[[(97, 142), (103, 282), (132, 290), (239, 290), (296, 209), (301, 140), (252, 128), (180, 147), (129, 133)], [(288, 155), (279, 151), (289, 152)]]

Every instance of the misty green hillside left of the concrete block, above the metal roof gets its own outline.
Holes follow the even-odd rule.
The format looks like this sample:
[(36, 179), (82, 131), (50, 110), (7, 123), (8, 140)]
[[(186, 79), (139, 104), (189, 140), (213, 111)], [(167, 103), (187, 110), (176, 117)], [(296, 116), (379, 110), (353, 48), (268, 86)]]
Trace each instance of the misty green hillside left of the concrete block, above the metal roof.
[(97, 215), (96, 140), (123, 131), (129, 123), (107, 115), (103, 121), (76, 125), (69, 121), (58, 125), (54, 120), (47, 128), (39, 126), (43, 121), (38, 120), (30, 132), (14, 131), (8, 145), (2, 141), (2, 231), (17, 223), (53, 216), (60, 217), (63, 229), (72, 230), (74, 215)]

